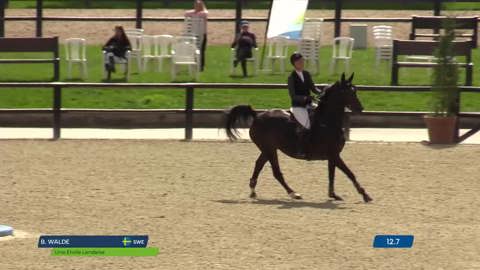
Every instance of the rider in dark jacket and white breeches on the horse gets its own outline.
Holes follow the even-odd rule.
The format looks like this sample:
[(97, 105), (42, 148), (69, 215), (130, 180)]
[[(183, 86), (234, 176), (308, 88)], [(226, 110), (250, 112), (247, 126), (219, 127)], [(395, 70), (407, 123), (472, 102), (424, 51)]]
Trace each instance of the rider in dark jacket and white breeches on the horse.
[(305, 144), (310, 142), (310, 118), (308, 109), (312, 108), (312, 96), (310, 91), (318, 92), (312, 81), (310, 73), (304, 70), (305, 59), (300, 53), (290, 56), (290, 63), (294, 70), (288, 77), (288, 92), (292, 99), (291, 111), (295, 119), (301, 124), (296, 129), (298, 136), (297, 156), (305, 157)]

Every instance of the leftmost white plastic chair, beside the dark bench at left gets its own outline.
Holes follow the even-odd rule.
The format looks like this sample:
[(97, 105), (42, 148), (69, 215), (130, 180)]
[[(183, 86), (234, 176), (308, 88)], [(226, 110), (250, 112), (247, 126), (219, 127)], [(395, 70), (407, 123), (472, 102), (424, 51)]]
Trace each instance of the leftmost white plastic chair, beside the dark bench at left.
[(86, 47), (86, 41), (83, 38), (69, 38), (65, 40), (65, 59), (68, 63), (68, 79), (72, 78), (72, 66), (74, 63), (81, 65), (81, 77), (88, 78)]

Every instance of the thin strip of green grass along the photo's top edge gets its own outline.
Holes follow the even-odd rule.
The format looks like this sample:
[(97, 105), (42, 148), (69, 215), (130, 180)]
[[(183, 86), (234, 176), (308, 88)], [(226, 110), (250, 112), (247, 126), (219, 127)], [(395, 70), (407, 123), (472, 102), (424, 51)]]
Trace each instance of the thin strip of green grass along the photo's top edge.
[[(35, 0), (10, 0), (9, 8), (35, 8)], [(166, 5), (170, 2), (169, 5)], [(86, 5), (84, 0), (44, 0), (45, 8), (135, 8), (135, 1), (132, 0), (91, 0), (90, 5)], [(192, 8), (192, 1), (160, 1), (160, 0), (145, 0), (145, 8), (176, 8), (188, 9)], [(207, 1), (208, 8), (211, 9), (234, 9), (235, 1), (231, 0), (209, 0)], [(269, 8), (270, 1), (265, 0), (249, 0), (246, 2), (244, 8), (249, 9), (266, 9)], [(429, 1), (388, 1), (388, 0), (344, 0), (344, 9), (402, 9), (402, 10), (431, 10), (433, 4)], [(310, 1), (309, 9), (334, 9), (334, 1)], [(480, 10), (480, 4), (472, 2), (459, 3), (444, 3), (443, 9), (446, 10)]]

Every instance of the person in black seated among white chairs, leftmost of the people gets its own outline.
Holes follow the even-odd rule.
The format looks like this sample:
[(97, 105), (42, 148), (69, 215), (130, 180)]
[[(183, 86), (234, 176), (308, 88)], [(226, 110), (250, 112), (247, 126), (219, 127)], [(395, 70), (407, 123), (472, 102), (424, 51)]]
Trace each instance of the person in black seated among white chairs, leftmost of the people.
[(108, 42), (103, 46), (105, 53), (105, 69), (108, 71), (108, 77), (110, 73), (115, 72), (115, 57), (127, 58), (127, 51), (130, 50), (130, 41), (125, 34), (125, 30), (122, 26), (115, 26), (115, 35), (111, 37)]

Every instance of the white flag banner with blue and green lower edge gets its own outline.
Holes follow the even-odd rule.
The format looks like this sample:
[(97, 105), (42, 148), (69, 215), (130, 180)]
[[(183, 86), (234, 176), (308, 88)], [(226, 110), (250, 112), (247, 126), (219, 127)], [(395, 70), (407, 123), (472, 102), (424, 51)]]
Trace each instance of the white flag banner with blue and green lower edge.
[(300, 39), (307, 6), (308, 0), (273, 0), (267, 38)]

